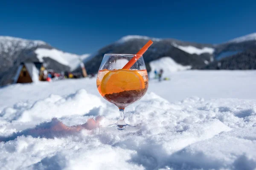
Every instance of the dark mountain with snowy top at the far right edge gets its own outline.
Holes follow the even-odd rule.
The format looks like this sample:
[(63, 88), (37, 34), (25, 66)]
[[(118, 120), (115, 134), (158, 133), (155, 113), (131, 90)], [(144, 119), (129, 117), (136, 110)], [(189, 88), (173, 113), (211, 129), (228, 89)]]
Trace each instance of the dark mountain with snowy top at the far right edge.
[(215, 62), (203, 69), (256, 69), (256, 33), (215, 46)]

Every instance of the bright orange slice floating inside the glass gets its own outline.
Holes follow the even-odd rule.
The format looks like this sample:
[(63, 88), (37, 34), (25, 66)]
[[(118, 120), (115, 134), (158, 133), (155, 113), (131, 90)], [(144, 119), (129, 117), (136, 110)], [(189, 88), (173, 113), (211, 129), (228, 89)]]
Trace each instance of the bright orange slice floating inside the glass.
[(122, 91), (145, 88), (143, 77), (137, 71), (120, 69), (106, 74), (100, 85), (101, 94), (113, 94)]

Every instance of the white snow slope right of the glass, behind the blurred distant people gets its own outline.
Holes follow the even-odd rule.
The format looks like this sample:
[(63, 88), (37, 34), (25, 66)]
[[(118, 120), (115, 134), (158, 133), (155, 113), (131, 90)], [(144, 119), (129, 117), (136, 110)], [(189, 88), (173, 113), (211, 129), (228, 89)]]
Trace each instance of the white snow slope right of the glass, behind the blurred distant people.
[(163, 69), (163, 76), (166, 73), (191, 69), (190, 65), (180, 65), (177, 62), (175, 62), (171, 57), (162, 57), (160, 59), (151, 61), (149, 62), (149, 66), (151, 68), (149, 77), (154, 77), (154, 71), (159, 71), (160, 69)]

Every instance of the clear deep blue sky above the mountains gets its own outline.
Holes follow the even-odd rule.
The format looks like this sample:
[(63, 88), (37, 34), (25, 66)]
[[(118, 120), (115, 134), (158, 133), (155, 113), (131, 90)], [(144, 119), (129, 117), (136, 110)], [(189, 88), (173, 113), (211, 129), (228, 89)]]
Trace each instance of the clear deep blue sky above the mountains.
[(256, 0), (1, 0), (0, 35), (76, 54), (125, 35), (221, 43), (256, 32)]

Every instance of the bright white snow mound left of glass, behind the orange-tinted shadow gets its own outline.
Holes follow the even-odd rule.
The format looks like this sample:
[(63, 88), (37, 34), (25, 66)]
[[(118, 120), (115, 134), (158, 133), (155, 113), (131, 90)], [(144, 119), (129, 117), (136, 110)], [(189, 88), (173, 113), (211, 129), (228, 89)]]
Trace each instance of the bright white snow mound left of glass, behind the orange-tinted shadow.
[(51, 95), (44, 100), (37, 101), (32, 108), (24, 111), (17, 120), (21, 122), (42, 121), (52, 117), (83, 115), (98, 106), (105, 106), (99, 97), (87, 94), (85, 90), (79, 90), (76, 94), (71, 94), (66, 98)]

